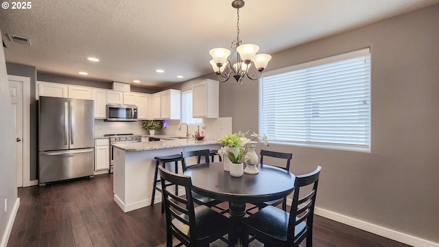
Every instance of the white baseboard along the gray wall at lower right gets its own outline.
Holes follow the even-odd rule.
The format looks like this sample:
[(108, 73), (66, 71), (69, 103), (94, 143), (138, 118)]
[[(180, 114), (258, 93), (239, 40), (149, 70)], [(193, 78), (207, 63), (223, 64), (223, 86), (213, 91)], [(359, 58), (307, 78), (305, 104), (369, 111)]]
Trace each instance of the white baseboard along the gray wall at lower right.
[(326, 209), (320, 209), (316, 207), (314, 209), (314, 213), (316, 213), (316, 215), (326, 217), (330, 220), (335, 220), (336, 222), (347, 224), (348, 226), (353, 226), (363, 231), (368, 231), (369, 233), (374, 233), (382, 237), (387, 237), (388, 239), (392, 239), (397, 242), (408, 244), (410, 246), (439, 247), (438, 243), (430, 242), (425, 239), (420, 239), (419, 237), (414, 237), (412, 235), (407, 235), (405, 233), (394, 231), (392, 229), (385, 228), (383, 226), (377, 226), (375, 224), (364, 222), (362, 220), (357, 220), (353, 217), (348, 217), (340, 213), (334, 213)]

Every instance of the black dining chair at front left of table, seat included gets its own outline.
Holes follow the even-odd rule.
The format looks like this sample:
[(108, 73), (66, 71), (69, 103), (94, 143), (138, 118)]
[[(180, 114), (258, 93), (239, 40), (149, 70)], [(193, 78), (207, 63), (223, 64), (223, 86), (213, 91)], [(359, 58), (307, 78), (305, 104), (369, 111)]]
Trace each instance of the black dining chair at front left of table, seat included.
[[(194, 207), (191, 177), (174, 174), (163, 167), (158, 169), (165, 203), (166, 246), (172, 246), (173, 236), (180, 242), (176, 246), (209, 246), (217, 239), (224, 240), (223, 236), (230, 231), (228, 218), (204, 205)], [(186, 198), (169, 191), (168, 183), (184, 187)]]

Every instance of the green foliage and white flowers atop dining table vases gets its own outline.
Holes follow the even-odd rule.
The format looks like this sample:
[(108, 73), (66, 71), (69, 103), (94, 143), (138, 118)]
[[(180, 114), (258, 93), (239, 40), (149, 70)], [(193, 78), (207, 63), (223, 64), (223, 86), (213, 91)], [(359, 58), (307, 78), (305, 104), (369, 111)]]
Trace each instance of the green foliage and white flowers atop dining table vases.
[(248, 131), (245, 133), (239, 131), (235, 134), (226, 134), (224, 137), (218, 140), (218, 142), (224, 146), (218, 150), (218, 154), (227, 154), (230, 162), (239, 164), (243, 163), (244, 158), (246, 157), (248, 152), (248, 143), (250, 143), (250, 141), (261, 139), (264, 145), (268, 145), (268, 137), (265, 134), (263, 134), (261, 137), (259, 134), (253, 132), (253, 134), (250, 134), (252, 139), (246, 138), (246, 134), (248, 134)]

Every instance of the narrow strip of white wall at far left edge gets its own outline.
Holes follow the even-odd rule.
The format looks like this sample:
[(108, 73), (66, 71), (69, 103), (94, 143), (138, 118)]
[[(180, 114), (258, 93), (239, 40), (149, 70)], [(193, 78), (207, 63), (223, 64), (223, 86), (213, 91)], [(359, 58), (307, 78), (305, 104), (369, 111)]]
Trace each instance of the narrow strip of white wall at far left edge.
[(3, 46), (0, 48), (0, 115), (0, 247), (3, 247), (7, 244), (19, 206), (16, 189), (16, 137)]

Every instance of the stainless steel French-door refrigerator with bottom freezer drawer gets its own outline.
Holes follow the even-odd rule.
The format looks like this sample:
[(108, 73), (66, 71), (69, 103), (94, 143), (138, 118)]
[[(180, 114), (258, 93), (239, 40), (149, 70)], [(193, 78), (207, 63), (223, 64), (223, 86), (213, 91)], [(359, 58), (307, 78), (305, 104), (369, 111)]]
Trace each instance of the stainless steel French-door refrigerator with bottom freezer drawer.
[(59, 180), (93, 176), (93, 100), (40, 96), (38, 108), (40, 186)]

